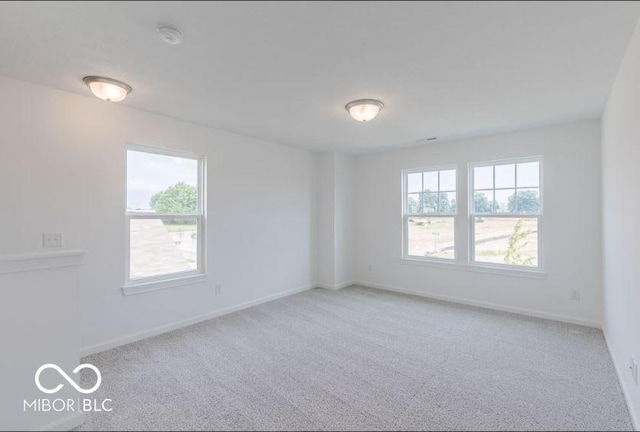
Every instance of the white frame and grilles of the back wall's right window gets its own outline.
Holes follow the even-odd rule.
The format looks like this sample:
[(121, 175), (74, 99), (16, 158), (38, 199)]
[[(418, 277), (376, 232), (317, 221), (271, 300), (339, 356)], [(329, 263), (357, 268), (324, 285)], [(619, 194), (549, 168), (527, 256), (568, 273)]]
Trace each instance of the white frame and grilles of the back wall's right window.
[[(509, 164), (518, 164), (518, 163), (528, 163), (528, 162), (538, 162), (539, 163), (539, 173), (538, 173), (538, 189), (540, 196), (540, 209), (537, 213), (476, 213), (474, 211), (474, 171), (475, 168), (492, 166), (493, 168), (493, 191), (494, 191), (494, 201), (495, 201), (495, 191), (503, 190), (503, 189), (519, 189), (518, 185), (518, 170), (515, 168), (515, 180), (513, 188), (496, 188), (495, 187), (495, 166), (499, 165), (509, 165)], [(484, 267), (488, 269), (496, 269), (496, 270), (512, 270), (512, 271), (526, 271), (533, 273), (542, 273), (544, 272), (544, 261), (543, 261), (543, 245), (542, 245), (542, 227), (543, 227), (543, 216), (544, 216), (544, 185), (543, 185), (543, 159), (542, 156), (529, 156), (529, 157), (520, 157), (520, 158), (511, 158), (511, 159), (499, 159), (493, 161), (485, 161), (485, 162), (472, 162), (469, 163), (469, 186), (468, 190), (468, 224), (469, 224), (469, 265), (474, 267)], [(531, 187), (522, 187), (522, 189), (530, 189)], [(485, 190), (485, 189), (480, 189)], [(488, 190), (488, 189), (487, 189)], [(516, 192), (517, 193), (517, 192)], [(498, 264), (498, 263), (487, 263), (482, 261), (475, 260), (475, 218), (483, 217), (483, 218), (527, 218), (527, 219), (537, 219), (538, 225), (538, 259), (537, 266), (524, 266), (517, 264)]]

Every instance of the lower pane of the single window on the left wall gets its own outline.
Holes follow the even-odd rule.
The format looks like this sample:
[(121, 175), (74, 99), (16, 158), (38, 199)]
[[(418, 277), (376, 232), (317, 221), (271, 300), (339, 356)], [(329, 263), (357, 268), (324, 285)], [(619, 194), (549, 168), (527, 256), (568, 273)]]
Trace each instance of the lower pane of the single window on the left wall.
[(197, 219), (131, 219), (130, 279), (198, 266)]

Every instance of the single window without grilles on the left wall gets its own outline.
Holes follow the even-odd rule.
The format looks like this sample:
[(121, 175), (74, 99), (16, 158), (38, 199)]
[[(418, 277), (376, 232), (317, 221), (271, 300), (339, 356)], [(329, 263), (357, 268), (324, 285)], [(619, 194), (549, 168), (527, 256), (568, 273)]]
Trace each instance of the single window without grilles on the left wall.
[(127, 286), (204, 273), (203, 169), (201, 155), (127, 146)]

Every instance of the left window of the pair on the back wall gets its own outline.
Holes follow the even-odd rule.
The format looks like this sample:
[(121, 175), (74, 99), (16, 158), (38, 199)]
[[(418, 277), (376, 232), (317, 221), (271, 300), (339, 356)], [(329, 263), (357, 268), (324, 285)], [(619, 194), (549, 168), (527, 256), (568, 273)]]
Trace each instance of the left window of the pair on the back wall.
[(455, 259), (456, 169), (403, 171), (405, 258)]

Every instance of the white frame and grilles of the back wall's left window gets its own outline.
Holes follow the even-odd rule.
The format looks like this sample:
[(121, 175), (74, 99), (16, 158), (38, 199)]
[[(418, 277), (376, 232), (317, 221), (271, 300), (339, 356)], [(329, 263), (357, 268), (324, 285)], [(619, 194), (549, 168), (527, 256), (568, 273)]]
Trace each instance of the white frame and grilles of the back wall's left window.
[[(436, 193), (440, 193), (440, 171), (451, 171), (454, 170), (456, 172), (456, 190), (455, 191), (444, 191), (444, 192), (455, 192), (456, 196), (456, 211), (455, 213), (419, 213), (419, 214), (410, 214), (407, 212), (407, 195), (408, 195), (408, 178), (409, 174), (415, 173), (425, 173), (425, 172), (438, 172), (438, 191)], [(459, 170), (457, 165), (440, 165), (440, 166), (432, 166), (432, 167), (422, 167), (422, 168), (409, 168), (402, 170), (402, 259), (409, 261), (424, 261), (431, 263), (442, 263), (442, 264), (455, 264), (458, 262), (458, 214), (459, 214), (459, 203), (458, 199), (458, 191), (459, 191)], [(423, 184), (424, 189), (424, 184)], [(424, 193), (424, 190), (421, 192)], [(439, 199), (439, 198), (438, 198)], [(418, 255), (409, 255), (409, 218), (412, 217), (432, 217), (432, 218), (451, 218), (453, 220), (453, 236), (454, 236), (454, 258), (438, 258), (438, 257), (426, 257), (426, 256), (418, 256)]]

